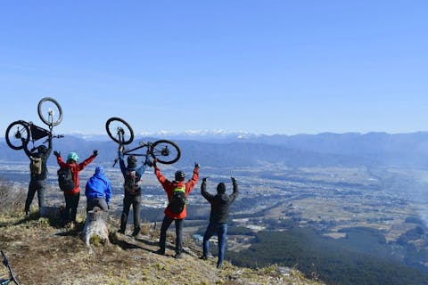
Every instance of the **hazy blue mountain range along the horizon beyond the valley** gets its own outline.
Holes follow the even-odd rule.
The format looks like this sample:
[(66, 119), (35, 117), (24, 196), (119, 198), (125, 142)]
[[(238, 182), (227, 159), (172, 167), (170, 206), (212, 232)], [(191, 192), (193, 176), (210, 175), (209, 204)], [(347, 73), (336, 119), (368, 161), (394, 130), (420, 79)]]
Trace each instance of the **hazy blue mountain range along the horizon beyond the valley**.
[[(244, 134), (191, 133), (159, 136), (136, 135), (140, 141), (169, 139), (177, 142), (182, 159), (177, 166), (198, 161), (212, 167), (254, 167), (278, 164), (287, 167), (398, 166), (428, 167), (428, 132), (409, 134)], [(99, 161), (112, 162), (117, 144), (105, 135), (66, 134), (55, 139), (53, 148), (62, 153), (78, 151), (81, 158), (94, 149)], [(13, 151), (0, 141), (0, 160), (25, 160), (23, 151)]]

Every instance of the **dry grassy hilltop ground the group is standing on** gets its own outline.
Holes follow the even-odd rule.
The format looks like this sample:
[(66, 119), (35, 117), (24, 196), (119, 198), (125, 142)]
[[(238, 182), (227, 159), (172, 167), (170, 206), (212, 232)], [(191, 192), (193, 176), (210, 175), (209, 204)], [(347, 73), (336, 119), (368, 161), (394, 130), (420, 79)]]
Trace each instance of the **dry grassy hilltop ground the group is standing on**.
[[(215, 258), (202, 261), (200, 248), (185, 240), (185, 257), (173, 258), (155, 253), (159, 229), (145, 224), (136, 239), (115, 233), (117, 221), (109, 222), (111, 244), (94, 242), (91, 248), (80, 238), (84, 225), (78, 217), (75, 227), (62, 227), (58, 221), (21, 214), (0, 215), (0, 248), (8, 257), (21, 284), (322, 284), (306, 279), (291, 269), (282, 272), (276, 265), (258, 270), (226, 263), (216, 269)], [(172, 236), (168, 237), (173, 240)], [(0, 276), (6, 276), (6, 268)]]

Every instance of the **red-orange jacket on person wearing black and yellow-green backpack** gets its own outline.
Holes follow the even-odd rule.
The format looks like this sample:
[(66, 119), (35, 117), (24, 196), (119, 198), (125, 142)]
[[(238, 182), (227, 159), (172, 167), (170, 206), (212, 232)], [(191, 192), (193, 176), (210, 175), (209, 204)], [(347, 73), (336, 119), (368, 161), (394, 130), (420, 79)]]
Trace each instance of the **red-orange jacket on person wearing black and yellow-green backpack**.
[[(161, 174), (161, 170), (159, 169), (158, 166), (154, 167), (154, 174), (156, 175), (156, 177), (158, 177), (158, 180), (161, 183), (163, 190), (167, 192), (168, 200), (170, 200), (174, 189), (176, 189), (177, 187), (182, 187), (183, 184), (185, 184), (185, 197), (189, 196), (190, 192), (193, 190), (194, 186), (198, 182), (199, 167), (194, 167), (193, 176), (186, 183), (184, 181), (170, 182), (167, 178), (165, 178), (164, 175)], [(175, 220), (184, 219), (187, 216), (187, 208), (185, 207), (185, 209), (180, 214), (175, 214), (175, 213), (172, 213), (167, 207), (165, 208), (164, 213), (166, 216), (172, 217)]]

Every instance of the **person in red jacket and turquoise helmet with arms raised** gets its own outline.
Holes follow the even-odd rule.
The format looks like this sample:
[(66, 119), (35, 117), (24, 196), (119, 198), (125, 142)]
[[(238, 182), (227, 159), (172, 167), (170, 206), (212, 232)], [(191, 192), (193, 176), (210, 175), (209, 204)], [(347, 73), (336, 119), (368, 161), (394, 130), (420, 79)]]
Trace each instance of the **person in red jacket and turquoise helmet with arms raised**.
[(58, 151), (53, 151), (53, 154), (56, 157), (56, 161), (61, 168), (70, 167), (71, 177), (74, 182), (74, 187), (71, 190), (64, 191), (64, 199), (65, 199), (65, 209), (62, 213), (62, 218), (65, 223), (75, 223), (76, 215), (78, 213), (78, 200), (80, 199), (80, 182), (78, 179), (78, 173), (85, 169), (85, 167), (94, 161), (96, 156), (98, 155), (98, 151), (94, 151), (93, 154), (78, 163), (78, 154), (76, 152), (70, 152), (67, 156), (67, 161), (61, 157), (61, 153)]

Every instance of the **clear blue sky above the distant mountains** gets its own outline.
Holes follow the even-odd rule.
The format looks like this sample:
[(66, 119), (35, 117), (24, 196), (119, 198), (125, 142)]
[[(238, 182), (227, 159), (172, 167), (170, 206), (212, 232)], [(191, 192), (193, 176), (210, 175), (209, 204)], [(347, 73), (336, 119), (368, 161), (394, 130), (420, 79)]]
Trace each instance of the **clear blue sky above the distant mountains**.
[(1, 1), (0, 132), (428, 130), (427, 1)]

